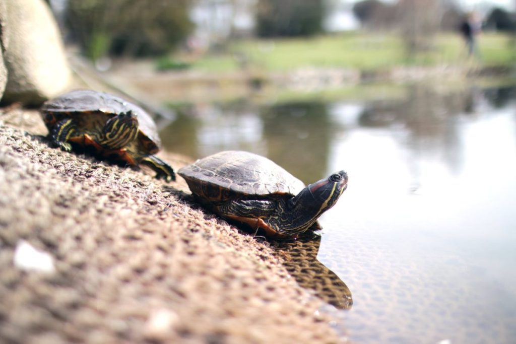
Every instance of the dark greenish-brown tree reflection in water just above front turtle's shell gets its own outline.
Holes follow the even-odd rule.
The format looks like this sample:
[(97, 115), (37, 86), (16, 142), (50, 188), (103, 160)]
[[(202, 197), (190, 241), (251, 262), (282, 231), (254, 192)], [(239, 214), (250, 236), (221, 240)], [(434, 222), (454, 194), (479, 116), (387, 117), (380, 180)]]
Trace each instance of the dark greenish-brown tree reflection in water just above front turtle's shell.
[(332, 123), (326, 103), (297, 102), (264, 107), (268, 157), (305, 183), (325, 177)]

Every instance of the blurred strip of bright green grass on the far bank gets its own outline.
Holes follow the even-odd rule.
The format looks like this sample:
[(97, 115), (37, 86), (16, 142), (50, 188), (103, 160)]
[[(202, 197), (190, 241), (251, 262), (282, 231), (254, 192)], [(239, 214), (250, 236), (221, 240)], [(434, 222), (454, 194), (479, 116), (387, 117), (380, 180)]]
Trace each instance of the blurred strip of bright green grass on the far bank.
[[(482, 65), (514, 65), (516, 47), (510, 37), (484, 34), (478, 39)], [(250, 39), (229, 44), (226, 54), (205, 55), (193, 61), (193, 69), (206, 72), (237, 71), (244, 65), (262, 72), (292, 71), (299, 68), (348, 68), (378, 71), (400, 65), (461, 65), (467, 60), (464, 43), (455, 34), (436, 38), (434, 47), (408, 57), (400, 38), (394, 34), (349, 34), (310, 39)]]

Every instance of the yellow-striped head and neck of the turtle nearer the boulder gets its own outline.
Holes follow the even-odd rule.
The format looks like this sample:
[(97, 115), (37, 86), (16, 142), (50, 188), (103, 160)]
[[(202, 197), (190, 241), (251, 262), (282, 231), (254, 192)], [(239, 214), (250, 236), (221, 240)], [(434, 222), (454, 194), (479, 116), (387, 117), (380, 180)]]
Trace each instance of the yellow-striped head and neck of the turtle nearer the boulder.
[(118, 150), (138, 136), (138, 119), (133, 111), (110, 118), (102, 128), (99, 144), (107, 149)]

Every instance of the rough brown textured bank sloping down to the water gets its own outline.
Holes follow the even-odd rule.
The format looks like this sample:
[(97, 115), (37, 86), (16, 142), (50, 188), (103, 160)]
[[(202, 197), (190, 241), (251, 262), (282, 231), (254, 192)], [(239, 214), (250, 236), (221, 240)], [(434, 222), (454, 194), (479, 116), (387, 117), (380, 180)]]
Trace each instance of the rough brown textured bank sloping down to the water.
[[(339, 341), (271, 245), (190, 203), (182, 179), (49, 148), (45, 130), (0, 109), (0, 342)], [(20, 242), (53, 272), (17, 268)]]

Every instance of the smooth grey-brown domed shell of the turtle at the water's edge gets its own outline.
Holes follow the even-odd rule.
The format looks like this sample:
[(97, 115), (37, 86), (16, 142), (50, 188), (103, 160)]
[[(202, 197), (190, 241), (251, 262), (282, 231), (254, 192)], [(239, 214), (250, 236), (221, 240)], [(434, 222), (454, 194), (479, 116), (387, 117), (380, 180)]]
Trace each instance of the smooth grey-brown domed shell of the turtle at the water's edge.
[(203, 191), (205, 186), (218, 187), (237, 195), (263, 198), (272, 194), (297, 195), (305, 187), (275, 162), (243, 151), (225, 151), (199, 159), (178, 173), (192, 191), (203, 185)]

